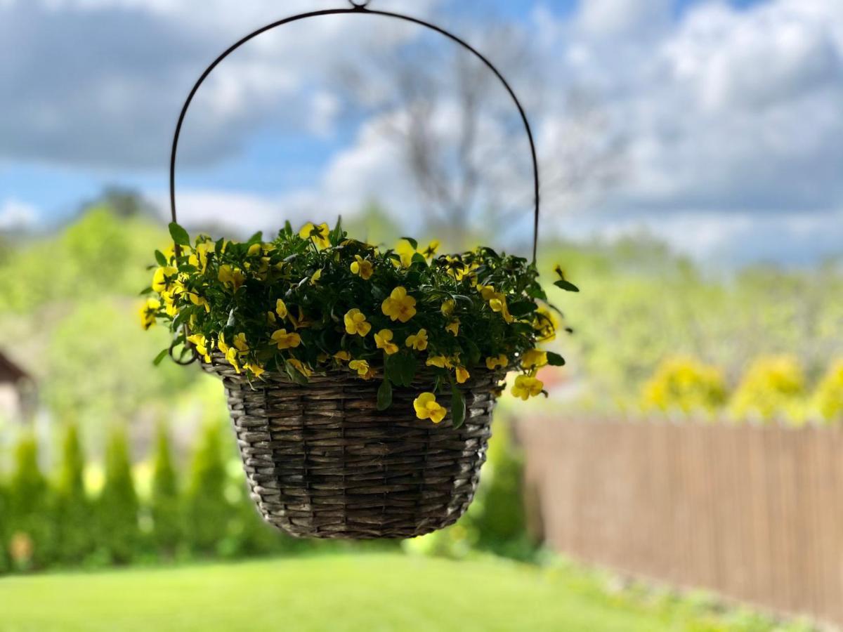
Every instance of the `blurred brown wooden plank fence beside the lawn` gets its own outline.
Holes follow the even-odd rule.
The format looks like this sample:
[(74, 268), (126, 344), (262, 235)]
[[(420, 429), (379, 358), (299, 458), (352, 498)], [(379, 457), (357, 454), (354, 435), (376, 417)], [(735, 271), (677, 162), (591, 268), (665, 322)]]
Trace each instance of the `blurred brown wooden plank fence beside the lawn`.
[(551, 547), (843, 625), (843, 432), (524, 420)]

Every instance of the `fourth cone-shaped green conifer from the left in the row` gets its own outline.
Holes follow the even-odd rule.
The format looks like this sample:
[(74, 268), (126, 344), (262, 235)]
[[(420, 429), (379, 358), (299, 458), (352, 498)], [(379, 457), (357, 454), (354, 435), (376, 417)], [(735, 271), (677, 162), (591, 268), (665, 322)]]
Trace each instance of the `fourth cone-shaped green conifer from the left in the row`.
[(169, 444), (169, 433), (158, 426), (153, 456), (153, 484), (150, 512), (153, 518), (153, 540), (158, 551), (172, 556), (183, 536), (178, 478)]

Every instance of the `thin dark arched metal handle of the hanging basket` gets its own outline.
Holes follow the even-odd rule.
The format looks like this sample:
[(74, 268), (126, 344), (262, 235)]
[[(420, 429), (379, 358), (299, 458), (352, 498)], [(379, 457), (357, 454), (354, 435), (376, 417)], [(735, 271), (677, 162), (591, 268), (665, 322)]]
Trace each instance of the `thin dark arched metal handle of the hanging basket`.
[[(411, 22), (412, 24), (418, 24), (423, 26), (427, 29), (432, 29), (437, 33), (444, 35), (449, 40), (452, 40), (462, 46), (465, 50), (470, 51), (473, 53), (478, 59), (483, 62), (486, 67), (491, 70), (495, 74), (495, 76), (501, 81), (504, 88), (507, 88), (507, 92), (509, 96), (512, 97), (513, 102), (515, 103), (515, 107), (518, 108), (518, 114), (521, 115), (521, 120), (524, 121), (524, 131), (527, 132), (527, 138), (529, 140), (529, 148), (531, 158), (533, 159), (533, 185), (534, 185), (534, 200), (535, 200), (535, 207), (534, 207), (534, 218), (533, 218), (533, 263), (535, 263), (535, 256), (536, 256), (536, 249), (538, 248), (539, 242), (539, 161), (536, 157), (535, 151), (535, 142), (533, 139), (533, 130), (529, 126), (529, 121), (527, 120), (527, 113), (524, 111), (524, 106), (521, 105), (521, 102), (518, 100), (518, 96), (515, 94), (513, 88), (509, 85), (506, 78), (503, 77), (502, 73), (494, 66), (486, 56), (483, 56), (480, 51), (477, 51), (474, 46), (471, 46), (465, 40), (462, 40), (457, 35), (453, 33), (449, 33), (447, 30), (437, 26), (436, 24), (431, 24), (426, 22), (422, 19), (413, 18), (409, 15), (404, 15), (403, 13), (392, 13), (389, 11), (378, 11), (375, 9), (370, 9), (367, 7), (368, 1), (364, 3), (354, 2), (350, 0), (352, 3), (352, 8), (329, 8), (323, 9), (320, 11), (310, 11), (308, 13), (299, 13), (298, 15), (292, 15), (289, 18), (280, 19), (277, 22), (273, 22), (272, 24), (266, 24), (266, 26), (261, 27), (260, 29), (252, 31), (249, 35), (245, 35), (240, 40), (234, 42), (231, 46), (223, 51), (220, 56), (215, 59), (210, 66), (208, 66), (204, 72), (201, 73), (199, 78), (196, 80), (196, 83), (191, 88), (190, 94), (187, 95), (187, 99), (185, 100), (185, 104), (181, 108), (181, 113), (179, 115), (179, 121), (175, 125), (175, 134), (173, 136), (173, 148), (170, 153), (169, 158), (169, 207), (170, 212), (173, 217), (173, 221), (176, 222), (176, 215), (175, 215), (175, 156), (176, 151), (179, 147), (179, 136), (181, 133), (181, 126), (185, 122), (185, 115), (187, 114), (187, 109), (191, 105), (191, 101), (193, 97), (196, 95), (196, 91), (199, 89), (201, 84), (205, 81), (207, 76), (211, 74), (214, 68), (217, 67), (219, 62), (222, 62), (227, 56), (231, 53), (236, 51), (240, 46), (243, 46), (247, 41), (251, 40), (254, 37), (257, 37), (261, 33), (265, 33), (268, 30), (275, 29), (278, 26), (282, 26), (283, 24), (290, 24), (292, 22), (297, 22), (300, 19), (308, 19), (308, 18), (317, 18), (320, 15), (337, 15), (342, 13), (357, 13), (357, 14), (370, 14), (370, 15), (383, 15), (387, 18), (395, 18), (401, 19), (405, 22)], [(179, 246), (176, 245), (176, 249)]]

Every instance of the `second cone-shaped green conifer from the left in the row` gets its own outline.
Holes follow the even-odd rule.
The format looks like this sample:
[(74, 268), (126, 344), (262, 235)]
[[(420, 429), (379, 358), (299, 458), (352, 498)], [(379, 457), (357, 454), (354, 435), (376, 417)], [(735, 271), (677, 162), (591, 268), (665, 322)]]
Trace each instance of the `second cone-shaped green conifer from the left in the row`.
[(85, 494), (84, 469), (77, 426), (69, 424), (62, 442), (62, 463), (56, 485), (57, 557), (65, 564), (82, 562), (94, 549), (94, 525)]

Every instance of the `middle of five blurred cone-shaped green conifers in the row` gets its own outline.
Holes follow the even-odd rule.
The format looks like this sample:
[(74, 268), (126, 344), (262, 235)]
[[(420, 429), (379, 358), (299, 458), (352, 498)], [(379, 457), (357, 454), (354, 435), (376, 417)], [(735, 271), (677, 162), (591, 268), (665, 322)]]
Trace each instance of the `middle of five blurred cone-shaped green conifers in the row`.
[(132, 462), (122, 429), (111, 431), (105, 450), (105, 483), (97, 502), (98, 539), (115, 564), (132, 560), (140, 543)]

